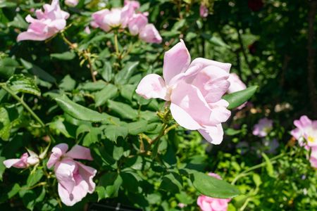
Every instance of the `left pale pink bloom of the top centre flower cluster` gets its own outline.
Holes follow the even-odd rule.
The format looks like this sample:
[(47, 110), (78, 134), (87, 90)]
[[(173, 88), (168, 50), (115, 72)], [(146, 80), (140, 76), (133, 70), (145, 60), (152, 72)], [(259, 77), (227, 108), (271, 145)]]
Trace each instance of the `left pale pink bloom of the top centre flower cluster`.
[(125, 4), (123, 8), (104, 9), (92, 14), (92, 27), (100, 27), (106, 32), (113, 28), (127, 27), (129, 20), (135, 13), (135, 6), (132, 2)]

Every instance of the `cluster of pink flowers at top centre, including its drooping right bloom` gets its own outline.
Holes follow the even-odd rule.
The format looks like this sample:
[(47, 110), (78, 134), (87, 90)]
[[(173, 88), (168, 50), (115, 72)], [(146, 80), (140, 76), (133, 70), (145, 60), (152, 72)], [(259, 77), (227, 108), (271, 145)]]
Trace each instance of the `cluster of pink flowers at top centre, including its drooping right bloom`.
[(138, 1), (125, 0), (123, 8), (103, 9), (92, 14), (92, 27), (109, 32), (113, 29), (128, 27), (130, 34), (149, 43), (161, 43), (162, 37), (153, 24), (148, 23), (148, 13), (137, 13)]

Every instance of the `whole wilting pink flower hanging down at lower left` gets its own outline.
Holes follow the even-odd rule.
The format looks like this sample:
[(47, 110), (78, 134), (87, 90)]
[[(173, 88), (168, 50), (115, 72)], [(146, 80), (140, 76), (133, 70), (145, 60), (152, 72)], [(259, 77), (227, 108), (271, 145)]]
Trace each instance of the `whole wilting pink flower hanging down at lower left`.
[(92, 160), (89, 148), (75, 145), (68, 150), (66, 143), (56, 145), (51, 151), (47, 167), (54, 166), (58, 181), (58, 195), (61, 201), (72, 206), (84, 198), (87, 193), (93, 193), (96, 184), (92, 180), (97, 170), (74, 159)]

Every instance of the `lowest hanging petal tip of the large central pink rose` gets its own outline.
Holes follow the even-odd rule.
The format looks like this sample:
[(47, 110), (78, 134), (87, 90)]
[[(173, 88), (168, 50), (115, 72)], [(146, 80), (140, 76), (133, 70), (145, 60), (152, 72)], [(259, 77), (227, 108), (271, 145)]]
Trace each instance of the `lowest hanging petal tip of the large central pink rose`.
[(220, 144), (223, 141), (223, 127), (221, 124), (206, 126), (203, 129), (199, 129), (198, 132), (210, 143)]

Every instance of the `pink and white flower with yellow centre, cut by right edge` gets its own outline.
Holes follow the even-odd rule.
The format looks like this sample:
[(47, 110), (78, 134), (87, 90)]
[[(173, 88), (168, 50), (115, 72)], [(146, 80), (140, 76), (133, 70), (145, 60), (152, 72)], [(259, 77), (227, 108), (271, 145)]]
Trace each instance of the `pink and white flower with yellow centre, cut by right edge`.
[(292, 130), (292, 136), (299, 141), (300, 146), (311, 151), (309, 161), (312, 167), (317, 168), (317, 120), (310, 120), (303, 115), (299, 120), (294, 121), (294, 125), (297, 128)]

